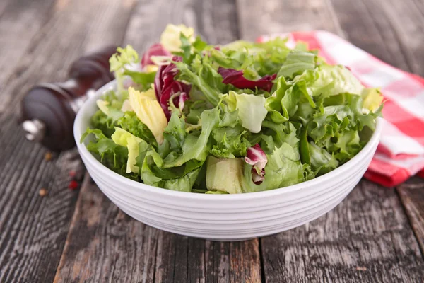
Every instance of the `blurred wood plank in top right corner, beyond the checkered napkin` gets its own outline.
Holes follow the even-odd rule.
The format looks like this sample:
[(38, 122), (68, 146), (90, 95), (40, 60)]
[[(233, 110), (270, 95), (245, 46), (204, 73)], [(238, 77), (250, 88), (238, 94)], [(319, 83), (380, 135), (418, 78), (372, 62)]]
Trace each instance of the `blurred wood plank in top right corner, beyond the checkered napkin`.
[(331, 3), (341, 28), (354, 45), (395, 67), (424, 75), (422, 1), (331, 0)]

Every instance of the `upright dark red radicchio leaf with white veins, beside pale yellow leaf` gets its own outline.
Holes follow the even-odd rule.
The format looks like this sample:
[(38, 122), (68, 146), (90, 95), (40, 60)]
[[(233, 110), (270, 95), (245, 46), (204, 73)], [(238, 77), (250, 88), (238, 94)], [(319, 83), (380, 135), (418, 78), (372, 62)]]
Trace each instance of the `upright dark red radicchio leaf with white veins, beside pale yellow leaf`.
[[(181, 62), (182, 58), (174, 56), (172, 57), (172, 61)], [(179, 93), (179, 96), (175, 97), (172, 103), (182, 110), (182, 108), (184, 108), (184, 102), (189, 99), (189, 92), (192, 88), (192, 86), (182, 83), (181, 81), (175, 81), (175, 76), (177, 76), (178, 71), (177, 66), (170, 63), (160, 66), (155, 76), (156, 98), (158, 98), (160, 106), (162, 106), (168, 121), (171, 117), (171, 112), (169, 110), (171, 96), (175, 93)]]

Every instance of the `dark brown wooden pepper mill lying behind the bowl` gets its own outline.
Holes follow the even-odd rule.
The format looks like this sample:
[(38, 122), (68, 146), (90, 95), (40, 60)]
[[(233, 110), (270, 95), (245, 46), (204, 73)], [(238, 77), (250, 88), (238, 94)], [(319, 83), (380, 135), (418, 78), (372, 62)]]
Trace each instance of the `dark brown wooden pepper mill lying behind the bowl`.
[(114, 79), (109, 58), (116, 46), (104, 47), (79, 58), (69, 68), (64, 83), (40, 83), (21, 102), (20, 119), (25, 137), (51, 151), (75, 146), (73, 120), (90, 93)]

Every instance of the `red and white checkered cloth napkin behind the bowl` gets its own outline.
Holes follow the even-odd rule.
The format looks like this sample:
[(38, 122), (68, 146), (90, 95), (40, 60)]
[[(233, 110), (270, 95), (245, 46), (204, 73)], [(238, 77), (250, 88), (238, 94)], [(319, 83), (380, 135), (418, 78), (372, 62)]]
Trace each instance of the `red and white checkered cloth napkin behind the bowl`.
[(424, 79), (386, 64), (322, 30), (259, 37), (288, 37), (288, 45), (307, 42), (329, 64), (343, 64), (365, 85), (381, 89), (386, 103), (377, 152), (365, 178), (391, 187), (412, 175), (424, 177)]

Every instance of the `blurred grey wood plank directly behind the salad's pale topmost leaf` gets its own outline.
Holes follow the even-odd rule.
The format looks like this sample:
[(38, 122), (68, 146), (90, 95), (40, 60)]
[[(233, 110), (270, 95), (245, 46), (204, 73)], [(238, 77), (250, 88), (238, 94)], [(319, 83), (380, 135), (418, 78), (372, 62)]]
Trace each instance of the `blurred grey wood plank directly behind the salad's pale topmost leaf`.
[[(153, 24), (154, 23), (154, 24)], [(125, 35), (125, 44), (140, 52), (160, 40), (168, 23), (184, 23), (208, 42), (226, 43), (238, 38), (235, 0), (142, 0)]]

